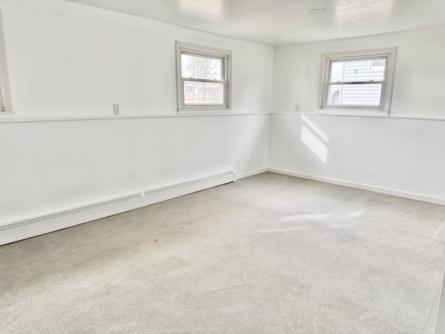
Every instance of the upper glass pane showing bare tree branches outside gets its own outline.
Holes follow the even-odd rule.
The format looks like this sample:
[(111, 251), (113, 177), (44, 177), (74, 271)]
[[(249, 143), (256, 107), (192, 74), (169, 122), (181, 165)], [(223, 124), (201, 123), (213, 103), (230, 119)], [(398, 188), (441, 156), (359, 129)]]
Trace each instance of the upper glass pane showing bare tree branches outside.
[(222, 60), (181, 54), (182, 77), (193, 79), (221, 79)]

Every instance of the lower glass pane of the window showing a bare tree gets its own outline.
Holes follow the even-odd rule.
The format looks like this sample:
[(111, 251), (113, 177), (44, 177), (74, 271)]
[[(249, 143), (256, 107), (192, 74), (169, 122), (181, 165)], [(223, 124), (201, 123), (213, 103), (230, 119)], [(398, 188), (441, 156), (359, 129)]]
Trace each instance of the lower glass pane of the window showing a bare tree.
[(184, 81), (184, 104), (224, 104), (224, 85)]

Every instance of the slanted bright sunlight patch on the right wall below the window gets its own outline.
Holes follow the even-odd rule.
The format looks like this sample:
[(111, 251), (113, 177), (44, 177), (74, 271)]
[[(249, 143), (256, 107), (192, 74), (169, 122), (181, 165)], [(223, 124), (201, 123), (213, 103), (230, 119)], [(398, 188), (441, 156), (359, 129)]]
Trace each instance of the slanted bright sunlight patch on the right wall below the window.
[(326, 134), (317, 127), (314, 122), (302, 115), (301, 140), (314, 154), (326, 164), (327, 162), (327, 138)]

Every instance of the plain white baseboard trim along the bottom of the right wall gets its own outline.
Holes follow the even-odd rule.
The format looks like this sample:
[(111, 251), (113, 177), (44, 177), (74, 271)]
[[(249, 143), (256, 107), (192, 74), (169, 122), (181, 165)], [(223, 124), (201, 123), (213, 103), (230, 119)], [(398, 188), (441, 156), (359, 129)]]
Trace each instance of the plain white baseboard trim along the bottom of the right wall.
[(445, 205), (445, 198), (433, 197), (423, 195), (421, 193), (411, 193), (409, 191), (402, 191), (397, 189), (385, 188), (383, 186), (372, 186), (371, 184), (363, 184), (358, 182), (334, 179), (332, 177), (318, 176), (307, 173), (294, 172), (293, 170), (286, 170), (281, 168), (268, 167), (268, 171), (272, 173), (290, 175), (301, 177), (303, 179), (321, 181), (326, 183), (338, 184), (340, 186), (349, 186), (351, 188), (364, 189), (375, 191), (376, 193), (385, 193), (387, 195), (398, 196), (403, 198), (410, 198), (411, 200), (422, 200), (423, 202), (430, 202), (434, 204)]

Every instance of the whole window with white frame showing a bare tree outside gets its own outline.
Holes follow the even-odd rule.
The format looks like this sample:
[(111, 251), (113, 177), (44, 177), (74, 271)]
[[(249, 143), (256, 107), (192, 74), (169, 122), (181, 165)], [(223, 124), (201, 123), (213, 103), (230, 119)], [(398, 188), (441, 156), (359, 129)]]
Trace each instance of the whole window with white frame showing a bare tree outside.
[(177, 42), (178, 111), (230, 108), (232, 51)]

